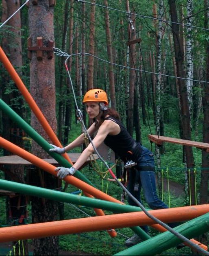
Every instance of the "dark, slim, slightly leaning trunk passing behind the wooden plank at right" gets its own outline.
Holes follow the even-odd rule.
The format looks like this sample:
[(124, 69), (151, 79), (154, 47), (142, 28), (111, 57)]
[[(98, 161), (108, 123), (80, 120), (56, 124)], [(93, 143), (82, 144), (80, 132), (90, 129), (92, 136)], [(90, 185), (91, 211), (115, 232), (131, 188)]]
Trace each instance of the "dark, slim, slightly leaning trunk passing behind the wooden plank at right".
[[(170, 6), (170, 15), (172, 22), (178, 22), (177, 13), (176, 13), (176, 3), (175, 0), (169, 0)], [(176, 59), (176, 71), (178, 77), (185, 77), (184, 72), (184, 55), (183, 55), (183, 44), (180, 38), (179, 25), (172, 23), (172, 33), (174, 40), (174, 50), (175, 50), (175, 59)], [(187, 88), (185, 81), (179, 79), (179, 95), (180, 95), (180, 105), (181, 105), (181, 118), (183, 126), (183, 138), (185, 140), (191, 140), (191, 127), (190, 127), (190, 115), (189, 115), (189, 104), (187, 97)], [(185, 147), (185, 158), (187, 163), (187, 168), (194, 169), (194, 156), (192, 152), (192, 147)], [(189, 179), (189, 172), (187, 172), (187, 177)], [(190, 174), (190, 184), (191, 184), (191, 203), (195, 204), (195, 181), (194, 181), (194, 172)]]

